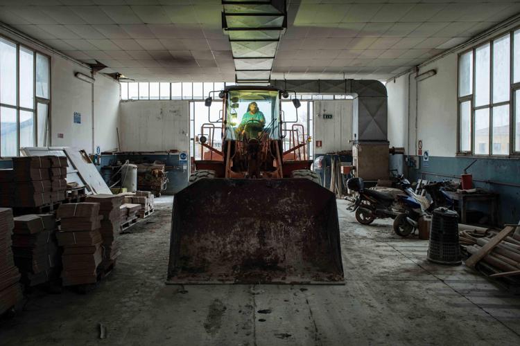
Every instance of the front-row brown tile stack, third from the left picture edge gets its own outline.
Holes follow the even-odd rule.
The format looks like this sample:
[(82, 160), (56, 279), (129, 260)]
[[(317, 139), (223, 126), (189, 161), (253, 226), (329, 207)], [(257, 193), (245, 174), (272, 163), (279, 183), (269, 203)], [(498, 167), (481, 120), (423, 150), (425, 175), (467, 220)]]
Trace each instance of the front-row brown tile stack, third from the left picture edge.
[(63, 285), (94, 284), (103, 260), (99, 203), (62, 204), (57, 216), (61, 219), (56, 237), (63, 247)]

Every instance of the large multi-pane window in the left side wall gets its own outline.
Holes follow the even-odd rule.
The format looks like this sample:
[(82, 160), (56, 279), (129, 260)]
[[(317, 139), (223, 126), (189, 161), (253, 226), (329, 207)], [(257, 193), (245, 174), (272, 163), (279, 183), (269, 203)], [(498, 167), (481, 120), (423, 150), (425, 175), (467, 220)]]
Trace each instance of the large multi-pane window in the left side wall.
[(0, 37), (0, 156), (50, 145), (48, 56)]

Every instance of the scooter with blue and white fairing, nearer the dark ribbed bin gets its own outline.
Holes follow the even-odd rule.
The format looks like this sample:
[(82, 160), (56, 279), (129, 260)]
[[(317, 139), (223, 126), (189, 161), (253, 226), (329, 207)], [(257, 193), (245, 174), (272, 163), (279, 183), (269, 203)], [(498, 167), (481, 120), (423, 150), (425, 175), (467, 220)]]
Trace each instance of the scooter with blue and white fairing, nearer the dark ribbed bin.
[(411, 188), (406, 196), (398, 196), (398, 203), (404, 212), (399, 213), (394, 219), (394, 232), (401, 237), (413, 233), (419, 224), (419, 219), (424, 215), (431, 215), (438, 207), (453, 207), (453, 200), (446, 193), (447, 182), (429, 183), (424, 185), (424, 190), (430, 195), (431, 201), (424, 196), (415, 194)]

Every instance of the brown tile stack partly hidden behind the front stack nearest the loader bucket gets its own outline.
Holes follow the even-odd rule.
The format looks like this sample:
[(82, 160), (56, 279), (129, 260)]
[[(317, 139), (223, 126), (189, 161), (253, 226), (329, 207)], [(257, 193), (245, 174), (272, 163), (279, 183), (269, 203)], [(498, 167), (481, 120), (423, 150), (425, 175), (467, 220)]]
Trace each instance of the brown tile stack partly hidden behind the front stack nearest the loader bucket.
[(115, 263), (119, 255), (116, 236), (121, 228), (120, 208), (123, 197), (117, 194), (94, 194), (87, 197), (85, 202), (99, 203), (99, 214), (103, 215), (101, 220), (101, 237), (103, 238), (103, 262), (102, 268), (108, 268)]

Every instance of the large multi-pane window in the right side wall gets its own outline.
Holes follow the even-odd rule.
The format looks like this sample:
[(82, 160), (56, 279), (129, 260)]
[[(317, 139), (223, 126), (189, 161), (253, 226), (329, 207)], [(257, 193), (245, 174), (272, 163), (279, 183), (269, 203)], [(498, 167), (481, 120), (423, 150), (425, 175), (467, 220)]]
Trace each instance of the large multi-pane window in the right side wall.
[(458, 152), (520, 154), (519, 90), (520, 30), (459, 55)]

